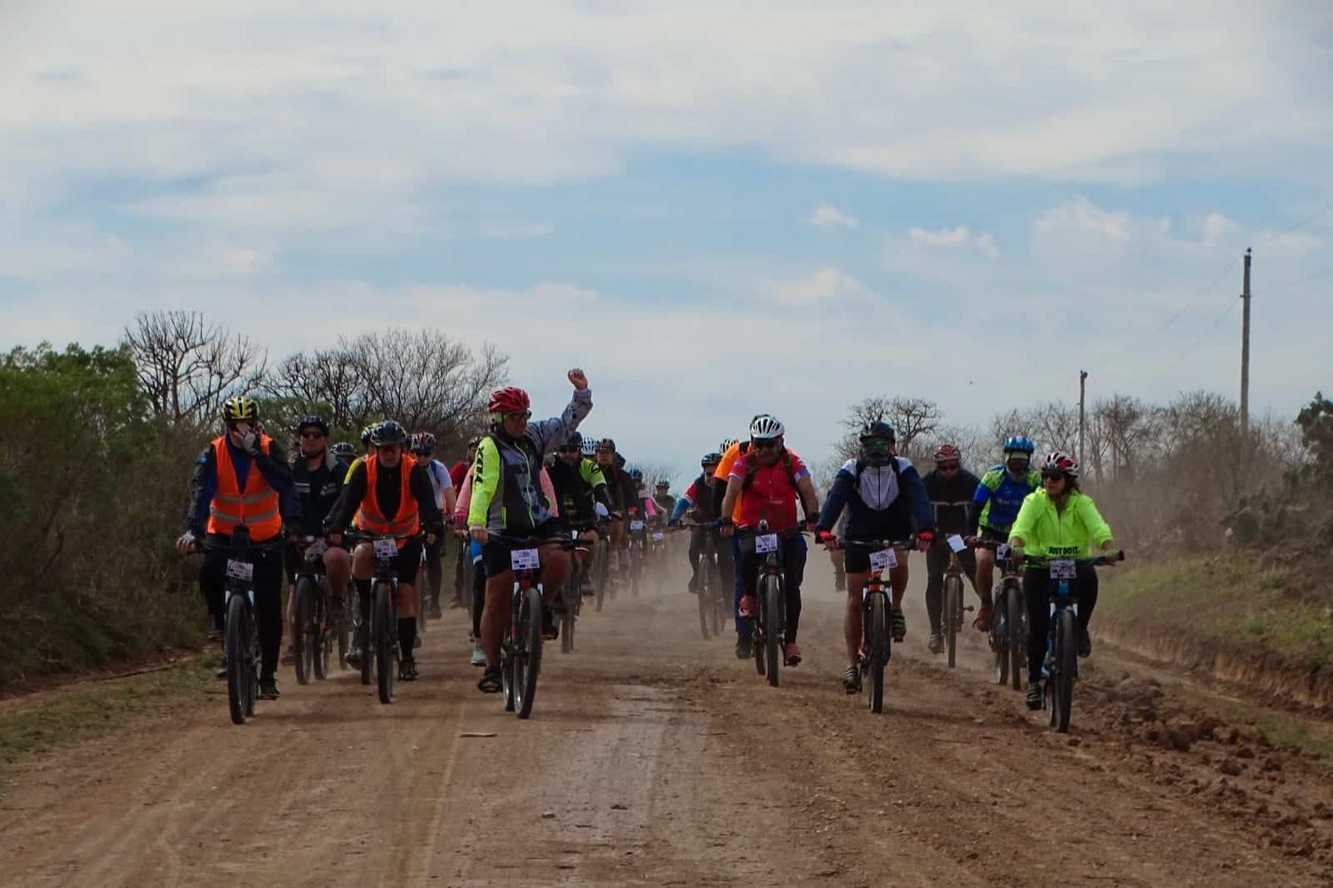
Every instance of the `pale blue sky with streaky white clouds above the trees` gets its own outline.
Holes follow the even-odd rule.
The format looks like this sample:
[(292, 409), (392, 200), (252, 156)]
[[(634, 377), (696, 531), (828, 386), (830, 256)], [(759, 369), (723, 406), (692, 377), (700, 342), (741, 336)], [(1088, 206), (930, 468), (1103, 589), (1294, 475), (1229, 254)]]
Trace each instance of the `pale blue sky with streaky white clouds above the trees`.
[(539, 411), (584, 366), (588, 427), (684, 466), (757, 410), (817, 455), (868, 394), (1234, 395), (1253, 246), (1253, 401), (1294, 413), (1333, 12), (1114, 5), (0, 0), (0, 345), (439, 326)]

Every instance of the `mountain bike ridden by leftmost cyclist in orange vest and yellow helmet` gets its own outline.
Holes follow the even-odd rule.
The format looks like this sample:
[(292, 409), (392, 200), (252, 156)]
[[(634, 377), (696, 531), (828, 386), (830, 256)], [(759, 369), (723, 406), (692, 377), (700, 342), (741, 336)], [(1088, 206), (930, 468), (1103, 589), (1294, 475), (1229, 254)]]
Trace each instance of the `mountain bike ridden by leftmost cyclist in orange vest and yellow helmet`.
[(268, 553), (279, 555), (287, 547), (287, 541), (279, 538), (252, 543), (249, 531), (237, 527), (232, 533), (229, 545), (205, 539), (200, 541), (199, 546), (204, 551), (227, 556), (223, 610), (227, 707), (231, 711), (232, 724), (245, 724), (245, 719), (255, 715), (261, 666), (259, 627), (255, 620), (255, 559)]

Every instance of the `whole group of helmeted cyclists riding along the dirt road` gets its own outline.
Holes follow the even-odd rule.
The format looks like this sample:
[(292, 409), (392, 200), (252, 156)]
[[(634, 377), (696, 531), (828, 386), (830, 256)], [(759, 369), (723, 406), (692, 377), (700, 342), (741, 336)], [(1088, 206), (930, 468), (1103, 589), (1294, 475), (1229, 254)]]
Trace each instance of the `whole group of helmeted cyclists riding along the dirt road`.
[[(436, 438), (409, 434), (388, 419), (361, 434), (363, 453), (345, 442), (329, 443), (329, 426), (307, 417), (295, 429), (297, 453), (288, 461), (284, 449), (264, 433), (259, 405), (235, 397), (223, 409), (223, 434), (199, 455), (191, 478), (181, 551), (200, 543), (225, 543), (244, 529), (253, 543), (289, 538), (291, 545), (265, 549), (255, 556), (253, 591), (261, 648), (260, 696), (279, 696), (276, 670), (284, 634), (281, 607), (284, 567), (295, 576), (300, 545), (329, 543), (323, 553), (324, 572), (333, 590), (351, 580), (360, 606), (360, 624), (369, 622), (371, 582), (376, 555), (371, 539), (392, 539), (397, 547), (399, 678), (419, 676), (417, 606), (440, 615), (443, 545), (449, 526), (459, 538), (457, 575), (472, 578), (471, 587), (456, 583), (455, 606), (472, 611), (472, 663), (481, 667), (483, 692), (501, 690), (501, 636), (509, 622), (516, 546), (539, 541), (540, 574), (548, 591), (543, 607), (543, 635), (556, 638), (555, 611), (567, 582), (588, 575), (589, 553), (608, 550), (608, 575), (619, 584), (629, 568), (627, 523), (643, 529), (689, 529), (688, 588), (700, 587), (701, 553), (716, 551), (722, 587), (733, 591), (736, 655), (753, 654), (756, 582), (762, 554), (756, 531), (784, 539), (780, 550), (785, 595), (786, 666), (801, 663), (797, 640), (801, 586), (808, 547), (805, 535), (825, 546), (838, 567), (846, 592), (844, 635), (848, 668), (844, 688), (858, 692), (862, 658), (861, 599), (870, 578), (869, 554), (849, 539), (902, 541), (896, 566), (888, 570), (890, 626), (894, 642), (906, 635), (902, 599), (908, 587), (908, 550), (926, 555), (929, 580), (928, 647), (938, 654), (941, 642), (941, 586), (950, 553), (957, 553), (981, 606), (976, 628), (992, 620), (996, 566), (993, 543), (1012, 547), (1014, 558), (1085, 558), (1092, 547), (1114, 549), (1110, 529), (1093, 501), (1078, 490), (1078, 463), (1052, 451), (1033, 465), (1036, 446), (1026, 437), (1004, 442), (1002, 462), (977, 478), (962, 467), (958, 449), (941, 443), (934, 469), (921, 477), (910, 459), (898, 455), (894, 429), (868, 422), (858, 435), (858, 451), (836, 473), (822, 497), (804, 461), (786, 447), (786, 429), (772, 414), (753, 417), (746, 439), (722, 441), (700, 459), (700, 474), (677, 499), (669, 482), (653, 490), (644, 475), (627, 469), (611, 438), (579, 431), (592, 411), (587, 375), (567, 374), (573, 394), (557, 417), (532, 421), (531, 399), (523, 389), (507, 386), (491, 393), (485, 434), (468, 445), (467, 459), (452, 467), (435, 459)], [(958, 546), (962, 539), (966, 546)], [(569, 542), (573, 545), (569, 545)], [(990, 546), (988, 546), (990, 545)], [(212, 627), (221, 634), (225, 558), (204, 546), (199, 583)], [(417, 588), (425, 564), (427, 588)], [(710, 562), (712, 563), (712, 562)], [(773, 568), (770, 568), (773, 570)], [(1050, 578), (1026, 570), (1024, 584), (1029, 620), (1028, 706), (1041, 707), (1041, 664), (1046, 644), (1046, 591)], [(1097, 575), (1080, 564), (1073, 583), (1078, 591), (1078, 652), (1090, 654), (1088, 623), (1097, 600)], [(349, 596), (351, 598), (351, 596)], [(332, 596), (333, 607), (341, 596)], [(285, 622), (291, 626), (292, 614)], [(361, 655), (364, 642), (353, 640), (348, 660)]]

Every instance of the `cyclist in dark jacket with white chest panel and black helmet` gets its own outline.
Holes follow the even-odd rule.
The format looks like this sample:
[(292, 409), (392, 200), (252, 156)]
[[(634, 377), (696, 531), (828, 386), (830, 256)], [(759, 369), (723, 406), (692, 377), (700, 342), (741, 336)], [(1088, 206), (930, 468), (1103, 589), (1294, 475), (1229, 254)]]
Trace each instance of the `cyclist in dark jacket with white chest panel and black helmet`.
[[(917, 547), (925, 551), (933, 539), (934, 519), (921, 477), (910, 459), (894, 453), (893, 426), (880, 419), (865, 423), (860, 434), (861, 453), (838, 469), (820, 513), (817, 538), (830, 549), (838, 546), (832, 534), (834, 525), (848, 510), (846, 537), (852, 539), (906, 539), (913, 527)], [(861, 547), (846, 550), (846, 612), (842, 635), (846, 640), (848, 663), (842, 687), (848, 692), (861, 690), (861, 592), (870, 579), (870, 553)], [(889, 571), (893, 640), (906, 636), (902, 616), (902, 595), (908, 590), (908, 559), (904, 553), (898, 566)]]

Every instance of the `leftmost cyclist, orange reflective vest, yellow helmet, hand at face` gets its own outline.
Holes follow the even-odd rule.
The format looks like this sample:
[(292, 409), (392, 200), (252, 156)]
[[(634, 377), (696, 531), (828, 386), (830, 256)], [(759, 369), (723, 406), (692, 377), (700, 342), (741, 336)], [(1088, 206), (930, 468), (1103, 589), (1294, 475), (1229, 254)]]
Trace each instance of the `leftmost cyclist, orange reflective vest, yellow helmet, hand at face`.
[[(199, 454), (189, 479), (189, 511), (185, 533), (176, 541), (181, 551), (208, 539), (231, 542), (232, 531), (245, 527), (251, 542), (264, 543), (283, 533), (284, 521), (300, 519), (301, 505), (292, 485), (292, 470), (281, 446), (259, 430), (259, 403), (249, 397), (228, 398), (223, 405), (224, 431)], [(205, 551), (199, 566), (199, 590), (204, 594), (213, 631), (221, 635), (225, 554)], [(277, 699), (277, 659), (283, 646), (283, 556), (265, 551), (255, 556), (255, 622), (263, 654), (260, 696)], [(225, 660), (219, 678), (227, 676)]]

